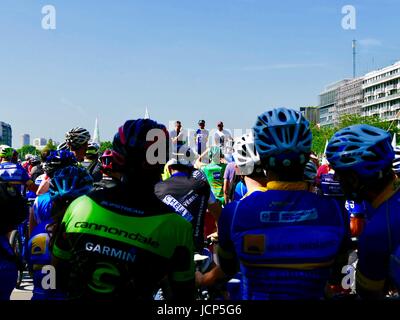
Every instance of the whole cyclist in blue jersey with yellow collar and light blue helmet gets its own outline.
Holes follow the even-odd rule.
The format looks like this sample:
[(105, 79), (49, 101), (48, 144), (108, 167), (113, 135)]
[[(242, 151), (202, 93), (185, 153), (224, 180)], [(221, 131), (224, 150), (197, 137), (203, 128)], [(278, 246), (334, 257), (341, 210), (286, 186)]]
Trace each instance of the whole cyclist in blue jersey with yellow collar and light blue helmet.
[(303, 181), (309, 123), (298, 111), (279, 108), (260, 115), (253, 129), (267, 191), (222, 211), (220, 266), (233, 276), (240, 262), (245, 300), (320, 299), (345, 227), (337, 204), (309, 192)]

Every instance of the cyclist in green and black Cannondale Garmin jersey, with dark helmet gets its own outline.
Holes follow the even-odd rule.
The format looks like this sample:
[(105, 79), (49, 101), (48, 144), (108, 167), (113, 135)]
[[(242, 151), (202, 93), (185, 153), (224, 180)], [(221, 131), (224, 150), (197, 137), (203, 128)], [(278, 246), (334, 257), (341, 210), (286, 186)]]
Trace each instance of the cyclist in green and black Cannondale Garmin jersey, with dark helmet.
[(193, 299), (192, 226), (154, 194), (167, 160), (154, 161), (154, 149), (167, 158), (165, 126), (126, 121), (113, 141), (121, 180), (68, 207), (52, 251), (69, 299), (151, 300), (165, 277), (173, 299)]

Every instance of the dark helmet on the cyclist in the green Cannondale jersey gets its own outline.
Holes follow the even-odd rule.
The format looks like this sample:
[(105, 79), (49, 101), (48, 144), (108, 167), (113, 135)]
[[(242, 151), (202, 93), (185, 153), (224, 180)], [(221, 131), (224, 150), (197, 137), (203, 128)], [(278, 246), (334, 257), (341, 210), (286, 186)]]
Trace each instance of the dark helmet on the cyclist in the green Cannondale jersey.
[[(154, 143), (159, 143), (160, 148), (149, 150)], [(136, 119), (126, 121), (118, 129), (113, 150), (125, 158), (123, 169), (127, 170), (144, 160), (150, 166), (164, 165), (169, 159), (169, 144), (169, 133), (163, 124), (151, 119)], [(153, 151), (157, 151), (157, 154)]]

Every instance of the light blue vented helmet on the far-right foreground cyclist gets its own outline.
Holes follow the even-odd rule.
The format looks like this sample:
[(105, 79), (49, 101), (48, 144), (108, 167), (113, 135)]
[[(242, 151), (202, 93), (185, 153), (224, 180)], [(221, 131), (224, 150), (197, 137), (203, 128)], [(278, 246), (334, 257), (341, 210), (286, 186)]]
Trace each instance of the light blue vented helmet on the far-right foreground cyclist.
[(360, 177), (381, 175), (394, 159), (392, 139), (388, 132), (367, 124), (339, 130), (326, 149), (335, 170), (353, 170)]

